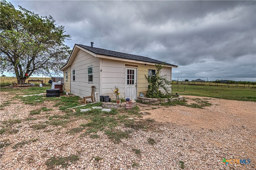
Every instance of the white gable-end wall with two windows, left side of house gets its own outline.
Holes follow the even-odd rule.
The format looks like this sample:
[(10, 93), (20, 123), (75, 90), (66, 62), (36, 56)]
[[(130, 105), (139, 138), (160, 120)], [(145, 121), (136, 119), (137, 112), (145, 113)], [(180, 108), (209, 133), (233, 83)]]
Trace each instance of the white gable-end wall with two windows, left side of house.
[[(88, 83), (87, 67), (93, 66), (93, 83)], [(74, 62), (70, 67), (70, 85), (73, 95), (79, 97), (90, 96), (92, 86), (95, 86), (95, 92), (98, 93), (97, 100), (99, 101), (100, 88), (100, 59), (94, 57), (85, 51), (79, 50)], [(76, 78), (73, 81), (73, 69), (76, 70)], [(90, 99), (88, 99), (90, 100)]]

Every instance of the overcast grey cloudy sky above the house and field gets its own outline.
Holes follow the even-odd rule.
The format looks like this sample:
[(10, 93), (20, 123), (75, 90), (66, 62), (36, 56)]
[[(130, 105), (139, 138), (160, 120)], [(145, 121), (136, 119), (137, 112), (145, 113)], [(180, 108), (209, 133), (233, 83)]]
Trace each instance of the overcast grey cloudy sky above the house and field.
[(256, 81), (256, 1), (14, 1), (75, 43), (165, 61), (172, 79)]

